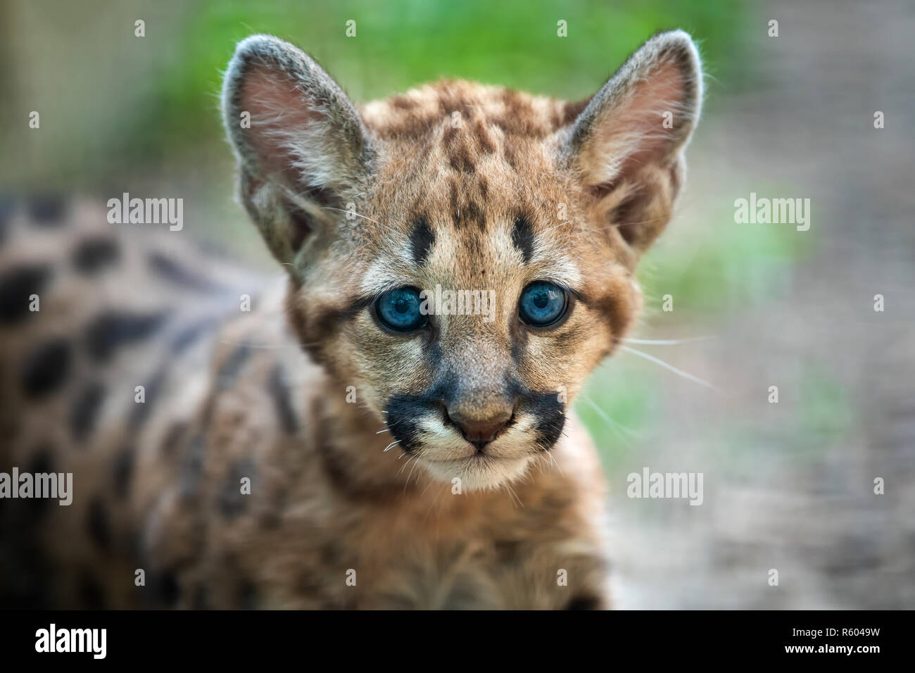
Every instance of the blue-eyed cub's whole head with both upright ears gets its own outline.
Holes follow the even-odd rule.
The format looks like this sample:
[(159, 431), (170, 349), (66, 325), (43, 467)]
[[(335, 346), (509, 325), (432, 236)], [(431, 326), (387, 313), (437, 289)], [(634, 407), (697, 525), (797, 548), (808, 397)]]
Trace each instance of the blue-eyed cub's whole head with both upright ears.
[(551, 450), (640, 309), (633, 269), (670, 219), (701, 82), (674, 31), (580, 103), (442, 81), (357, 107), (254, 36), (222, 105), (301, 342), (396, 450), (473, 488)]

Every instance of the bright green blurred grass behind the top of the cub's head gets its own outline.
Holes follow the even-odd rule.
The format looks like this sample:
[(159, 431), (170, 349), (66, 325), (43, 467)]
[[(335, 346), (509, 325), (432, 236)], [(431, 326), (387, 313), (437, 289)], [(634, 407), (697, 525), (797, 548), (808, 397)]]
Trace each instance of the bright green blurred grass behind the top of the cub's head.
[[(745, 19), (734, 2), (195, 3), (181, 16), (166, 67), (158, 71), (135, 127), (123, 136), (129, 147), (120, 152), (184, 154), (188, 147), (220, 141), (215, 95), (221, 71), (235, 43), (253, 33), (272, 33), (306, 49), (357, 101), (441, 77), (580, 99), (642, 41), (674, 27), (690, 31), (707, 71), (727, 79), (728, 54), (739, 48)], [(351, 38), (349, 20), (356, 22)], [(559, 20), (567, 22), (568, 37), (557, 36)]]

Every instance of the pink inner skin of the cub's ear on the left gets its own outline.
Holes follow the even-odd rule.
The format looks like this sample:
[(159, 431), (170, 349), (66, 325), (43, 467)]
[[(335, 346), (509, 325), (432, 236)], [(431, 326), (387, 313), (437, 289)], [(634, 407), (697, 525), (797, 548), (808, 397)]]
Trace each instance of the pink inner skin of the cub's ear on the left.
[(295, 183), (300, 177), (296, 156), (304, 148), (308, 130), (324, 121), (324, 115), (312, 108), (292, 77), (262, 65), (246, 73), (239, 109), (251, 113), (245, 138), (262, 174)]

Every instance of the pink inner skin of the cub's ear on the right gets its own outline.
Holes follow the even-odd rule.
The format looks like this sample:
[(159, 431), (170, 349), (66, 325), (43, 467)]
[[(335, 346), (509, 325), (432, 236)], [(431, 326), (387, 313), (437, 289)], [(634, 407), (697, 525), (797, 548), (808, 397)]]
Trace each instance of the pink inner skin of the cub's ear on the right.
[(579, 157), (588, 184), (617, 183), (642, 166), (673, 158), (688, 121), (684, 114), (690, 114), (684, 95), (683, 71), (671, 57), (630, 82), (617, 101), (608, 103)]

